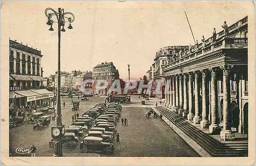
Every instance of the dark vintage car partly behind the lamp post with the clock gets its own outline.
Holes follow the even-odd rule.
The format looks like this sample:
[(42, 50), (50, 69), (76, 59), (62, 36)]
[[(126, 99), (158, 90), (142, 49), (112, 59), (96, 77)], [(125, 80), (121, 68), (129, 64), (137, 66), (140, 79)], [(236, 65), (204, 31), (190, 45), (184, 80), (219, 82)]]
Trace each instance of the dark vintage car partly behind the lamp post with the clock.
[[(73, 132), (65, 133), (62, 136), (61, 141), (63, 148), (76, 148), (79, 145), (79, 139)], [(54, 147), (53, 139), (49, 142), (49, 147)]]

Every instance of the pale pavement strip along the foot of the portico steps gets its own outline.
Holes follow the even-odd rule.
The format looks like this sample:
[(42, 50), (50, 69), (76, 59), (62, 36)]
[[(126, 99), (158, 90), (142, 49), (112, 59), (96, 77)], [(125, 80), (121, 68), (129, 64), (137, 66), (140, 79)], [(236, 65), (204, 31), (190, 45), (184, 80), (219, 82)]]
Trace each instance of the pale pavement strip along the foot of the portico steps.
[[(155, 108), (151, 107), (158, 115), (160, 112)], [(196, 143), (193, 139), (191, 139), (186, 133), (184, 133), (181, 129), (174, 125), (174, 123), (170, 122), (165, 116), (163, 116), (163, 121), (170, 126), (180, 137), (191, 147), (193, 148), (201, 157), (211, 157), (211, 155), (205, 151), (198, 143)]]

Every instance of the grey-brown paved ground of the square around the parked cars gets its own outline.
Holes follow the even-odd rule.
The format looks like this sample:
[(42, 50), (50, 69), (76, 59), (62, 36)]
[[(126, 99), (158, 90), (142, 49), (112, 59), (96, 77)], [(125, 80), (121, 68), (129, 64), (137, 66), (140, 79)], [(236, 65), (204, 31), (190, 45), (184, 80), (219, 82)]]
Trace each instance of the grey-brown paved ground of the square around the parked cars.
[[(81, 115), (98, 102), (103, 102), (104, 97), (89, 98), (81, 101), (78, 113)], [(78, 100), (73, 98), (73, 101)], [(66, 106), (63, 107), (65, 101)], [(157, 100), (156, 100), (157, 101)], [(116, 145), (115, 153), (110, 156), (199, 156), (172, 128), (159, 119), (147, 119), (146, 113), (155, 100), (146, 102), (148, 107), (141, 105), (138, 96), (132, 96), (132, 103), (123, 104), (121, 118), (129, 120), (127, 126), (117, 125), (120, 134), (120, 144)], [(61, 98), (62, 123), (67, 127), (72, 121), (72, 115), (77, 112), (71, 110), (71, 98)], [(53, 121), (51, 125), (53, 125)], [(121, 121), (119, 121), (121, 123)], [(37, 156), (53, 154), (48, 142), (51, 140), (51, 127), (44, 130), (33, 130), (32, 124), (25, 124), (10, 129), (10, 148), (30, 148), (35, 144)], [(116, 144), (116, 143), (115, 143)], [(63, 149), (63, 154), (80, 153), (79, 149)], [(101, 156), (107, 156), (100, 154)]]

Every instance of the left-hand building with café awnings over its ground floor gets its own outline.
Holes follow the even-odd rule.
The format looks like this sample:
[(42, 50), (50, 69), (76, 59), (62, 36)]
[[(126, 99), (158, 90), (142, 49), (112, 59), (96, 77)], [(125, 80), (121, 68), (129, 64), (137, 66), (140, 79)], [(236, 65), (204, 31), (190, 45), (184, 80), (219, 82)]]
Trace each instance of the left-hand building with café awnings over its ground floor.
[(42, 86), (40, 50), (9, 40), (9, 102), (16, 107), (41, 104), (53, 97)]

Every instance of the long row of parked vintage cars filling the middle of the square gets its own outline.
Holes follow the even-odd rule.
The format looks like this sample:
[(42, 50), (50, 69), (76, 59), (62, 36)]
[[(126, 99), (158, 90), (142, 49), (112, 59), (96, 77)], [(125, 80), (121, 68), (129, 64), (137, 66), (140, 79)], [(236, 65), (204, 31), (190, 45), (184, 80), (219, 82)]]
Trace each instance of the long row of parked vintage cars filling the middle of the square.
[[(83, 114), (83, 116), (95, 118), (95, 124), (80, 143), (81, 153), (114, 153), (115, 145), (113, 142), (117, 133), (116, 124), (121, 109), (122, 107), (116, 103), (98, 103), (94, 108)], [(96, 112), (94, 112), (95, 110)]]

